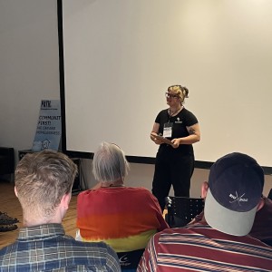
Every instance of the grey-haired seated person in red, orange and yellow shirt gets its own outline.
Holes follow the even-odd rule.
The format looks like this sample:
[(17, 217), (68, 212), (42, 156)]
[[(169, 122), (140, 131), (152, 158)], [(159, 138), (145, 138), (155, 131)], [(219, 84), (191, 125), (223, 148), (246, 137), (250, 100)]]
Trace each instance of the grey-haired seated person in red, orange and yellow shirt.
[(104, 241), (116, 252), (126, 252), (145, 248), (156, 232), (169, 228), (148, 189), (124, 185), (129, 163), (117, 145), (102, 142), (92, 166), (100, 183), (78, 196), (76, 239)]

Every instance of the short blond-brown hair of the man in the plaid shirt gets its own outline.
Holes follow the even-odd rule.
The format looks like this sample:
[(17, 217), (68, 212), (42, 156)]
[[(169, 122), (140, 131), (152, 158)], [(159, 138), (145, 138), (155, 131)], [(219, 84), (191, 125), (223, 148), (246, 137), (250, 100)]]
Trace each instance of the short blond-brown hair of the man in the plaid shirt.
[(28, 153), (17, 164), (15, 189), (23, 210), (51, 216), (64, 194), (71, 192), (77, 166), (62, 152)]

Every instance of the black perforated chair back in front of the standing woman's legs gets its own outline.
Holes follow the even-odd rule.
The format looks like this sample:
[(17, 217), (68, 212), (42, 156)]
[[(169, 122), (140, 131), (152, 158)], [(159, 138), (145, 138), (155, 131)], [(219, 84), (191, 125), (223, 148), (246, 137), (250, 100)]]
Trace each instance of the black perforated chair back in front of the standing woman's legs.
[(204, 209), (203, 199), (167, 197), (165, 202), (168, 210), (165, 220), (170, 228), (186, 226)]

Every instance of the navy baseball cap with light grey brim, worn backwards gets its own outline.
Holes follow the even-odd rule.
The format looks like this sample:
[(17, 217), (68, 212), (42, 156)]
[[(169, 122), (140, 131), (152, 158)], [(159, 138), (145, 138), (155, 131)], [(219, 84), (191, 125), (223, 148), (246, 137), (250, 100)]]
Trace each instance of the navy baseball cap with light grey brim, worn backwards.
[(252, 228), (264, 187), (264, 171), (246, 154), (234, 152), (217, 160), (209, 171), (204, 215), (209, 226), (235, 236)]

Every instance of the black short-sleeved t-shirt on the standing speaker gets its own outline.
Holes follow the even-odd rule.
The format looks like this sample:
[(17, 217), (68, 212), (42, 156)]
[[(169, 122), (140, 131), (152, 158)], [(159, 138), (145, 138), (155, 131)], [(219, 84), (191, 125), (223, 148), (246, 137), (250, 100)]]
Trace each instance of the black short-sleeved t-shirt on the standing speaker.
[[(192, 113), (183, 108), (177, 115), (171, 116), (168, 112), (168, 109), (162, 110), (159, 112), (156, 117), (155, 122), (160, 124), (159, 132), (161, 135), (163, 134), (164, 124), (171, 122), (172, 123), (172, 135), (168, 137), (168, 139), (172, 140), (175, 138), (182, 138), (189, 136), (189, 132), (186, 127), (192, 126), (198, 123), (198, 119)], [(160, 147), (163, 148), (166, 144), (160, 144)], [(182, 151), (183, 154), (192, 153), (192, 145), (191, 144), (180, 144), (179, 148), (176, 149)]]

